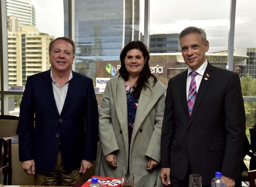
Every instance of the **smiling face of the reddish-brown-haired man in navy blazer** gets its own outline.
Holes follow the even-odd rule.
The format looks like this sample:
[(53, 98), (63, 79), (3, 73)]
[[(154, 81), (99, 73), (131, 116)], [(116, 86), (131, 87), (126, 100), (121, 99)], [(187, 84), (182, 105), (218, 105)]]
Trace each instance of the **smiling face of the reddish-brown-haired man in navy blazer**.
[(50, 62), (53, 71), (69, 72), (73, 64), (74, 55), (72, 45), (68, 41), (59, 39), (53, 43), (50, 52)]

